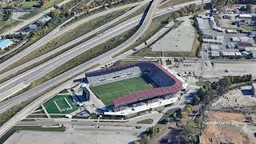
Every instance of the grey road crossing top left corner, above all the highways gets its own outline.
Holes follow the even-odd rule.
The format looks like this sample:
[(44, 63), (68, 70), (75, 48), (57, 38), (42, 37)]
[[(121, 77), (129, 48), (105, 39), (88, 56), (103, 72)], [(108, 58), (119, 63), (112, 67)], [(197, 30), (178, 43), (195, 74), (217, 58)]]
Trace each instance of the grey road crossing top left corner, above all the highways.
[[(60, 2), (60, 3), (64, 4), (64, 3), (70, 2), (70, 1), (71, 0), (64, 0), (63, 2)], [(49, 9), (43, 10), (42, 12), (40, 12), (37, 15), (35, 15), (34, 17), (32, 17), (30, 19), (27, 19), (26, 21), (20, 23), (18, 26), (14, 26), (10, 30), (6, 31), (5, 33), (0, 34), (0, 36), (6, 35), (6, 34), (14, 34), (15, 31), (20, 30), (24, 26), (30, 25), (30, 23), (35, 22), (39, 18), (42, 18), (42, 16), (44, 16), (45, 14), (50, 13), (51, 10), (54, 10), (54, 6), (50, 7)]]

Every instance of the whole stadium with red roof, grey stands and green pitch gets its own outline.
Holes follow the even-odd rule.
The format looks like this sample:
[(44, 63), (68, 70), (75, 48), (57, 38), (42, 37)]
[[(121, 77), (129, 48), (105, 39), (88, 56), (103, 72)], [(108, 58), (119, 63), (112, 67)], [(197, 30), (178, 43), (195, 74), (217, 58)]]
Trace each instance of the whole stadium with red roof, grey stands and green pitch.
[(178, 101), (182, 82), (154, 62), (113, 66), (86, 73), (90, 90), (111, 107), (104, 114), (129, 116)]

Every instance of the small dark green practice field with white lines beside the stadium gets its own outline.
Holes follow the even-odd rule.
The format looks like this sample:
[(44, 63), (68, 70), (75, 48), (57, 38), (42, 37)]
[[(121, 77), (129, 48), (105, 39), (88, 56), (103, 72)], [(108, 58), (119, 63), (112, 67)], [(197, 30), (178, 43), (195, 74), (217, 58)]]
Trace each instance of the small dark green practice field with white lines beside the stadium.
[(48, 114), (70, 114), (78, 110), (70, 94), (58, 94), (43, 104)]

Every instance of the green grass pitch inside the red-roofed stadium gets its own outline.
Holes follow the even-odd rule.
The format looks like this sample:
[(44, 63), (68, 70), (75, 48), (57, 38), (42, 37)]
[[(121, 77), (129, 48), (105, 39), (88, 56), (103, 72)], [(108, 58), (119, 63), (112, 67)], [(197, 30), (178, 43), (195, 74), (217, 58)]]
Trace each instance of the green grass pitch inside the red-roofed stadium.
[(133, 94), (140, 90), (150, 90), (153, 84), (150, 78), (136, 77), (118, 82), (110, 82), (99, 86), (91, 86), (90, 90), (102, 100), (106, 106), (113, 105), (114, 98), (122, 97), (125, 94)]

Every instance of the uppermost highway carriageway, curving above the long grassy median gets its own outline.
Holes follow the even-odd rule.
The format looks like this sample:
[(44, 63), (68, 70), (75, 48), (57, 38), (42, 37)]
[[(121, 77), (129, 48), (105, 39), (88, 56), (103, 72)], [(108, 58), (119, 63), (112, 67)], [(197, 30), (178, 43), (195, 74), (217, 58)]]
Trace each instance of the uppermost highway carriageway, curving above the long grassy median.
[[(93, 14), (93, 15), (87, 17), (87, 18), (84, 18), (84, 19), (82, 19), (78, 22), (75, 22), (74, 24), (72, 24), (70, 26), (66, 26), (64, 29), (62, 29), (62, 26), (65, 25), (66, 22), (70, 22), (70, 20), (73, 19), (73, 18), (70, 18), (70, 20), (68, 20), (66, 22), (63, 22), (62, 25), (60, 25), (57, 28), (55, 28), (54, 30), (50, 31), (49, 34), (46, 34), (46, 36), (39, 39), (37, 42), (34, 42), (31, 46), (27, 47), (25, 50), (22, 50), (20, 53), (14, 55), (12, 58), (9, 58), (5, 62), (2, 62), (0, 64), (0, 70), (5, 69), (7, 66), (10, 66), (14, 62), (18, 62), (19, 59), (24, 58), (27, 54), (30, 54), (32, 51), (37, 50), (40, 46), (43, 46), (47, 42), (50, 42), (52, 39), (57, 38), (58, 36), (66, 33), (67, 31), (74, 29), (75, 27), (81, 25), (84, 22), (89, 22), (90, 20), (92, 20), (94, 18), (98, 18), (98, 17), (100, 17), (102, 15), (105, 15), (105, 14), (110, 14), (110, 13), (114, 12), (115, 10), (122, 10), (122, 9), (127, 8), (127, 7), (138, 6), (139, 4), (140, 4), (140, 2), (131, 3), (131, 4), (128, 4), (128, 5), (118, 6), (118, 7), (115, 7), (113, 9), (103, 11), (101, 13)], [(79, 39), (74, 40), (74, 42), (79, 42)]]

